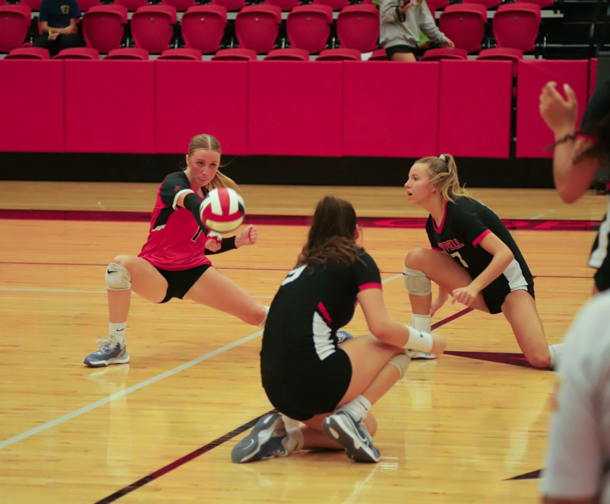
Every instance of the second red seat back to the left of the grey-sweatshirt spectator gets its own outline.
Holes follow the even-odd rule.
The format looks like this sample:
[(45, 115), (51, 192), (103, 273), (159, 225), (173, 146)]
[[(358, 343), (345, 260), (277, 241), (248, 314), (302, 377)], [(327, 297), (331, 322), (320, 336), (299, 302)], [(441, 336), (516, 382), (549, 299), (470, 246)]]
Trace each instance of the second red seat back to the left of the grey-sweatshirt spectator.
[(326, 49), (332, 23), (332, 8), (328, 5), (301, 5), (288, 14), (286, 30), (292, 47), (319, 53)]

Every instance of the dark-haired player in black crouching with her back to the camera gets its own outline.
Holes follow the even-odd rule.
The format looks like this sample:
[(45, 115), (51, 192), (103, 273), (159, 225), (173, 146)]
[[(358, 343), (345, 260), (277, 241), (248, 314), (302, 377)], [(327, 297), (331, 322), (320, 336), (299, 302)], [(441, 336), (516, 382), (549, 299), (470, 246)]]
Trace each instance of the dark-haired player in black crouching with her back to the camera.
[[(261, 349), (269, 401), (305, 425), (287, 430), (280, 413), (266, 415), (233, 448), (233, 462), (314, 448), (345, 448), (353, 460), (378, 462), (371, 436), (377, 424), (368, 410), (404, 375), (410, 363), (404, 348), (444, 351), (442, 336), (390, 318), (379, 269), (358, 238), (350, 203), (332, 196), (318, 203), (297, 265), (271, 303)], [(373, 334), (339, 346), (337, 330), (356, 303)]]

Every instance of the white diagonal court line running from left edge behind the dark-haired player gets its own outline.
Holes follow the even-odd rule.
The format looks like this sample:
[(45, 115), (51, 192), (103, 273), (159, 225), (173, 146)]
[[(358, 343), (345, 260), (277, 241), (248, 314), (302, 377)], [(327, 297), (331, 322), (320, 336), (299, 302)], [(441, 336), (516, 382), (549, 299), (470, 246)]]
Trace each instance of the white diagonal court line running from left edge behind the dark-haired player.
[[(395, 280), (400, 277), (402, 277), (402, 274), (393, 275), (392, 277), (382, 280), (381, 283), (387, 284), (387, 282), (392, 282), (392, 280)], [(5, 290), (9, 290), (9, 289), (5, 289)], [(12, 289), (12, 290), (18, 290), (18, 289)], [(30, 290), (30, 289), (25, 289), (25, 290)], [(80, 292), (80, 291), (76, 291), (76, 292)], [(94, 292), (94, 291), (82, 291), (82, 292)], [(12, 444), (18, 443), (19, 441), (22, 441), (23, 439), (27, 439), (30, 436), (35, 436), (36, 434), (39, 434), (42, 431), (46, 431), (46, 429), (51, 429), (51, 427), (56, 427), (59, 424), (63, 424), (63, 422), (72, 420), (73, 418), (78, 417), (78, 416), (82, 415), (83, 413), (87, 413), (91, 410), (94, 410), (95, 408), (99, 408), (99, 406), (108, 404), (110, 401), (114, 401), (115, 399), (126, 396), (128, 393), (132, 393), (139, 389), (143, 389), (145, 386), (154, 384), (154, 383), (158, 382), (159, 380), (162, 380), (163, 378), (167, 378), (167, 377), (172, 376), (173, 374), (177, 374), (181, 371), (184, 371), (184, 370), (188, 369), (189, 367), (192, 367), (196, 364), (203, 362), (204, 360), (208, 360), (212, 357), (216, 357), (216, 355), (219, 355), (220, 353), (226, 352), (226, 351), (230, 350), (231, 348), (235, 348), (236, 346), (246, 343), (247, 341), (250, 341), (251, 339), (261, 336), (261, 334), (263, 334), (262, 331), (258, 331), (258, 332), (255, 332), (254, 334), (250, 334), (249, 336), (246, 336), (245, 338), (238, 339), (237, 341), (233, 341), (232, 343), (230, 343), (228, 345), (217, 348), (216, 350), (211, 351), (210, 353), (201, 355), (200, 357), (193, 359), (188, 363), (179, 365), (178, 367), (174, 367), (173, 370), (169, 370), (164, 373), (158, 374), (156, 377), (152, 377), (150, 379), (145, 380), (144, 382), (140, 382), (139, 384), (135, 384), (130, 387), (127, 387), (127, 389), (122, 390), (120, 392), (113, 393), (111, 396), (100, 399), (99, 401), (96, 401), (95, 403), (91, 403), (86, 406), (83, 406), (82, 408), (79, 408), (78, 410), (68, 413), (68, 415), (63, 415), (63, 417), (58, 417), (55, 420), (46, 422), (46, 424), (39, 425), (38, 427), (35, 427), (34, 429), (30, 429), (29, 431), (25, 431), (25, 432), (22, 432), (21, 434), (17, 434), (17, 436), (13, 436), (12, 438), (6, 439), (5, 441), (1, 441), (0, 450), (6, 448), (7, 446), (11, 446)]]

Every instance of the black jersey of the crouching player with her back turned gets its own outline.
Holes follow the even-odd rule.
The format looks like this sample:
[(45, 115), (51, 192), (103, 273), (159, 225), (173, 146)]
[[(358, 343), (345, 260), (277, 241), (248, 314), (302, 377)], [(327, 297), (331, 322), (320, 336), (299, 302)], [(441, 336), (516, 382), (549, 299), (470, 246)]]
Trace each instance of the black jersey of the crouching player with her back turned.
[(363, 250), (353, 265), (335, 260), (292, 270), (271, 303), (263, 334), (261, 374), (282, 377), (337, 351), (337, 329), (354, 316), (356, 295), (381, 289), (379, 268)]

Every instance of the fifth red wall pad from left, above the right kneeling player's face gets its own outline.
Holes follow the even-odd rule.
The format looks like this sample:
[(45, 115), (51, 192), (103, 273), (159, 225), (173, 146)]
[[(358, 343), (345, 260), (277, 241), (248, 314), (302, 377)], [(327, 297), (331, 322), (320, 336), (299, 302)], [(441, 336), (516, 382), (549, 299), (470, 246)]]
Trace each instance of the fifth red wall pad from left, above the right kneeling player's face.
[(344, 156), (437, 153), (439, 63), (344, 63)]

